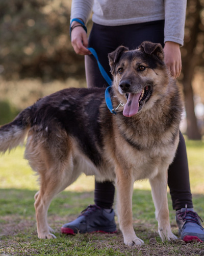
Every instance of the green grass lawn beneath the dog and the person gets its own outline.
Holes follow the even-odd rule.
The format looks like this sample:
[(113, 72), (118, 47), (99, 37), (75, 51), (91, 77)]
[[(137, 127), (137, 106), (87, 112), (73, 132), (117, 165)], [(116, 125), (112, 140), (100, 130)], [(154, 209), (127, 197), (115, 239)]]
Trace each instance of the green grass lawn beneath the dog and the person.
[[(204, 142), (187, 140), (186, 144), (194, 207), (204, 219)], [(69, 237), (61, 234), (62, 224), (74, 220), (82, 209), (93, 203), (94, 179), (84, 175), (50, 205), (48, 222), (55, 229), (57, 239), (39, 240), (33, 206), (33, 197), (38, 190), (37, 177), (23, 159), (23, 151), (23, 147), (17, 147), (10, 154), (1, 156), (0, 255), (204, 255), (202, 243), (186, 244), (181, 240), (161, 242), (147, 181), (135, 183), (133, 195), (134, 229), (144, 240), (144, 246), (125, 246), (120, 231), (116, 234), (77, 234)], [(168, 199), (170, 223), (177, 235), (175, 212), (169, 194)]]

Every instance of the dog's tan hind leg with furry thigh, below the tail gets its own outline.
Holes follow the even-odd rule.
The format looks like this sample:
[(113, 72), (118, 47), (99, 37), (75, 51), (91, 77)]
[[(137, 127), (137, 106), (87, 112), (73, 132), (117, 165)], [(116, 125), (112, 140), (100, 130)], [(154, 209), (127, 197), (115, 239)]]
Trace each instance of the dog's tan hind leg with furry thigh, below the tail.
[(71, 142), (66, 137), (66, 133), (55, 132), (49, 134), (48, 138), (45, 135), (31, 131), (25, 150), (25, 158), (39, 175), (40, 190), (35, 195), (34, 205), (38, 237), (43, 239), (55, 238), (47, 224), (50, 202), (81, 173), (73, 166)]

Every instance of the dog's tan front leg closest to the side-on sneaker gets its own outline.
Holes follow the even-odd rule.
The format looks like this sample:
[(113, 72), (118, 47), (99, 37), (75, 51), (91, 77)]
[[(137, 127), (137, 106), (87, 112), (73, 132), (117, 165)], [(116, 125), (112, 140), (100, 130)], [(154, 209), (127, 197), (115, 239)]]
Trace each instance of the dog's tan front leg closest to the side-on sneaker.
[(122, 231), (125, 245), (141, 245), (133, 228), (132, 196), (134, 179), (132, 173), (123, 172), (120, 167), (116, 169), (117, 188), (117, 214), (119, 227)]

